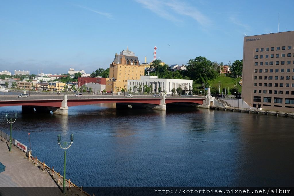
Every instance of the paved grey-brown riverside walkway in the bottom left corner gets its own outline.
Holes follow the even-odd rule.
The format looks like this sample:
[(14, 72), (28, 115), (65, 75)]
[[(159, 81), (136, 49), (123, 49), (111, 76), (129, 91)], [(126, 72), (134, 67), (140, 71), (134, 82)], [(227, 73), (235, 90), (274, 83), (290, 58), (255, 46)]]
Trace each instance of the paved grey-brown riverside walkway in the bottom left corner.
[[(9, 142), (1, 136), (0, 162), (6, 166), (5, 171), (0, 173), (1, 196), (35, 195), (33, 193), (37, 195), (46, 195), (46, 193), (49, 195), (63, 195), (62, 185), (60, 187), (49, 172), (42, 171), (42, 168), (39, 166), (34, 166), (31, 161), (28, 161), (26, 153), (14, 145), (12, 145), (11, 152), (9, 152)], [(46, 192), (45, 190), (50, 190), (50, 192)], [(66, 192), (66, 195), (81, 195), (80, 192), (78, 192), (79, 194), (77, 192), (76, 190), (72, 190), (71, 192)]]

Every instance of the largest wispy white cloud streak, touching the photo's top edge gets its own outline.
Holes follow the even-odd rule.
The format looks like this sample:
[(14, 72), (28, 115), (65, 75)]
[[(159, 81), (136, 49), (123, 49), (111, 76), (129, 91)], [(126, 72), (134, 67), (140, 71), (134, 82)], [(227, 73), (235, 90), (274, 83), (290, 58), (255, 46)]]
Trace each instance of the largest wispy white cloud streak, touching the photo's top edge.
[(166, 1), (166, 0), (135, 0), (142, 4), (146, 9), (158, 14), (162, 18), (182, 22), (178, 15), (189, 16), (196, 20), (202, 26), (206, 26), (211, 23), (210, 19), (203, 15), (196, 7), (188, 5), (178, 0)]

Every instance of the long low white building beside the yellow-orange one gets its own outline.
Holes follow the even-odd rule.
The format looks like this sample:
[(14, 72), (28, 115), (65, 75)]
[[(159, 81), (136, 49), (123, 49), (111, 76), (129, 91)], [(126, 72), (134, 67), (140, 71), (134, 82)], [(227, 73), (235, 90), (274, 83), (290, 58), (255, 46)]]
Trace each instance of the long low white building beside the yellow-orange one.
[[(167, 95), (172, 94), (172, 89), (177, 89), (181, 86), (184, 93), (189, 93), (189, 90), (193, 89), (193, 80), (183, 80), (183, 79), (169, 79), (169, 78), (158, 78), (158, 76), (141, 76), (140, 80), (127, 80), (127, 90), (132, 89), (132, 92), (137, 93), (139, 87), (141, 86), (143, 92), (143, 86), (151, 86), (151, 93), (163, 93), (166, 92)], [(135, 88), (134, 88), (135, 87)], [(158, 91), (160, 90), (160, 91)]]

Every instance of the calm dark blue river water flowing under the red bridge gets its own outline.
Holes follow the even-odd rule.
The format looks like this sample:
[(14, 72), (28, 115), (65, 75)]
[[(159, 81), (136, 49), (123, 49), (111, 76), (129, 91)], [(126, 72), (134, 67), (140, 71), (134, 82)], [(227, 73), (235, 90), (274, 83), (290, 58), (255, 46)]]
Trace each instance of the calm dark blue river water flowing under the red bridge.
[(207, 109), (116, 110), (115, 105), (69, 108), (68, 116), (18, 113), (13, 137), (78, 186), (293, 186), (293, 119)]

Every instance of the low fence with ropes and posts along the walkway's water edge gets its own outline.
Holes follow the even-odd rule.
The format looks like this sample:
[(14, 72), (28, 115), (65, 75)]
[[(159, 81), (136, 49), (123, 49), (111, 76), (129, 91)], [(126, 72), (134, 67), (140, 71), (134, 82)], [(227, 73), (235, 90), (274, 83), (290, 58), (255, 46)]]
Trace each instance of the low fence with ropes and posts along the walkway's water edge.
[[(0, 130), (0, 136), (2, 137), (2, 138), (4, 138), (6, 141), (8, 141), (9, 142), (9, 139), (10, 139), (10, 135), (7, 135), (6, 133), (4, 133), (3, 131), (1, 131)], [(12, 144), (13, 145), (15, 145), (14, 144), (14, 138), (12, 138)], [(16, 145), (15, 145), (16, 146)], [(17, 147), (17, 146), (16, 146)], [(36, 167), (39, 167), (39, 168), (41, 168), (42, 169), (42, 171), (46, 171), (46, 172), (48, 172), (49, 173), (49, 175), (52, 177), (52, 179), (57, 183), (57, 184), (61, 184), (61, 185), (63, 185), (63, 176), (62, 175), (60, 175), (60, 173), (58, 172), (56, 172), (55, 170), (54, 170), (54, 167), (52, 166), (52, 168), (51, 167), (49, 167), (48, 165), (46, 165), (45, 164), (45, 161), (43, 161), (43, 163), (35, 156), (33, 156), (33, 155), (31, 155), (31, 151), (29, 151), (28, 153), (27, 153), (27, 158), (28, 158), (28, 161), (29, 162), (31, 162), (31, 163), (34, 163), (34, 165), (36, 166)], [(56, 176), (56, 177), (55, 177)], [(58, 179), (56, 179), (56, 178), (58, 178)], [(62, 180), (61, 180), (62, 179)], [(75, 187), (77, 190), (79, 190), (79, 191), (81, 191), (81, 194), (85, 194), (85, 195), (87, 195), (87, 196), (91, 196), (91, 195), (89, 195), (87, 192), (85, 192), (85, 191), (83, 191), (83, 188), (82, 187), (78, 187), (77, 185), (75, 185), (74, 183), (72, 183), (71, 182), (71, 180), (69, 179), (69, 180), (67, 180), (67, 179), (65, 179), (65, 181), (67, 182), (67, 184), (66, 184), (66, 186), (69, 188), (69, 190), (71, 189), (71, 186), (72, 187)]]

